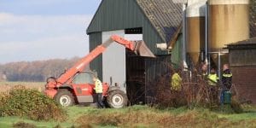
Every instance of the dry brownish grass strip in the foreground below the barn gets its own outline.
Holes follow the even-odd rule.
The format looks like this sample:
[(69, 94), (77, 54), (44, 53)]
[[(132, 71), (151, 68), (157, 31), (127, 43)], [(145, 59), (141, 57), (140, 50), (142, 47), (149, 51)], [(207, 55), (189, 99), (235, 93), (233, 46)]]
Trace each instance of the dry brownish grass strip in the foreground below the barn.
[(95, 110), (76, 120), (80, 127), (255, 127), (256, 119), (232, 121), (207, 109), (156, 109), (141, 106), (123, 110)]

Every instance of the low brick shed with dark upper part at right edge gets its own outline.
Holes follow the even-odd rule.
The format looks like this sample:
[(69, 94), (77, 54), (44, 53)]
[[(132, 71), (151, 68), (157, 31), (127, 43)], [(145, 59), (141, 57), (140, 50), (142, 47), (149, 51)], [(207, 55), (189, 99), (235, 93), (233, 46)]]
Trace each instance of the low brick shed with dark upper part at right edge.
[(244, 100), (256, 103), (256, 38), (229, 44), (233, 84)]

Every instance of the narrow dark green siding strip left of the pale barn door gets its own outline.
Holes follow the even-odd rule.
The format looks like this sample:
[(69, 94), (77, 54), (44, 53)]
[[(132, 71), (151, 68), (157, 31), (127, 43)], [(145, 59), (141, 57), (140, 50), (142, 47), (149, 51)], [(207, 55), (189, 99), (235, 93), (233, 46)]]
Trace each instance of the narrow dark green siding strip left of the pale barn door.
[[(102, 32), (90, 33), (90, 51), (95, 49), (96, 46), (102, 44)], [(98, 74), (99, 79), (102, 79), (102, 55), (96, 57), (94, 61), (90, 62), (90, 69), (95, 70)]]

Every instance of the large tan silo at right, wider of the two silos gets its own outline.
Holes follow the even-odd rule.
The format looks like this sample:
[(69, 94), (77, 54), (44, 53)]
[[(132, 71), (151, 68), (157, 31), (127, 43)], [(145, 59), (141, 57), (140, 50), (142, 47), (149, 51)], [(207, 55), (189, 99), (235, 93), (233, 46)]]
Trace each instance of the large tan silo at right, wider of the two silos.
[(249, 38), (249, 0), (209, 0), (209, 50)]

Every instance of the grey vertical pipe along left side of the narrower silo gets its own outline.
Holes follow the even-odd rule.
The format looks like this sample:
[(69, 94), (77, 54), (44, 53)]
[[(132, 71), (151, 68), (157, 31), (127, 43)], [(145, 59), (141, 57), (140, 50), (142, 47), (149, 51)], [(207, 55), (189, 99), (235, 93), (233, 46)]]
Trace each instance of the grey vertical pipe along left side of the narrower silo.
[(186, 8), (187, 3), (183, 3), (183, 70), (188, 70), (187, 64), (187, 49), (186, 49), (186, 42), (187, 42), (187, 23), (186, 23)]

